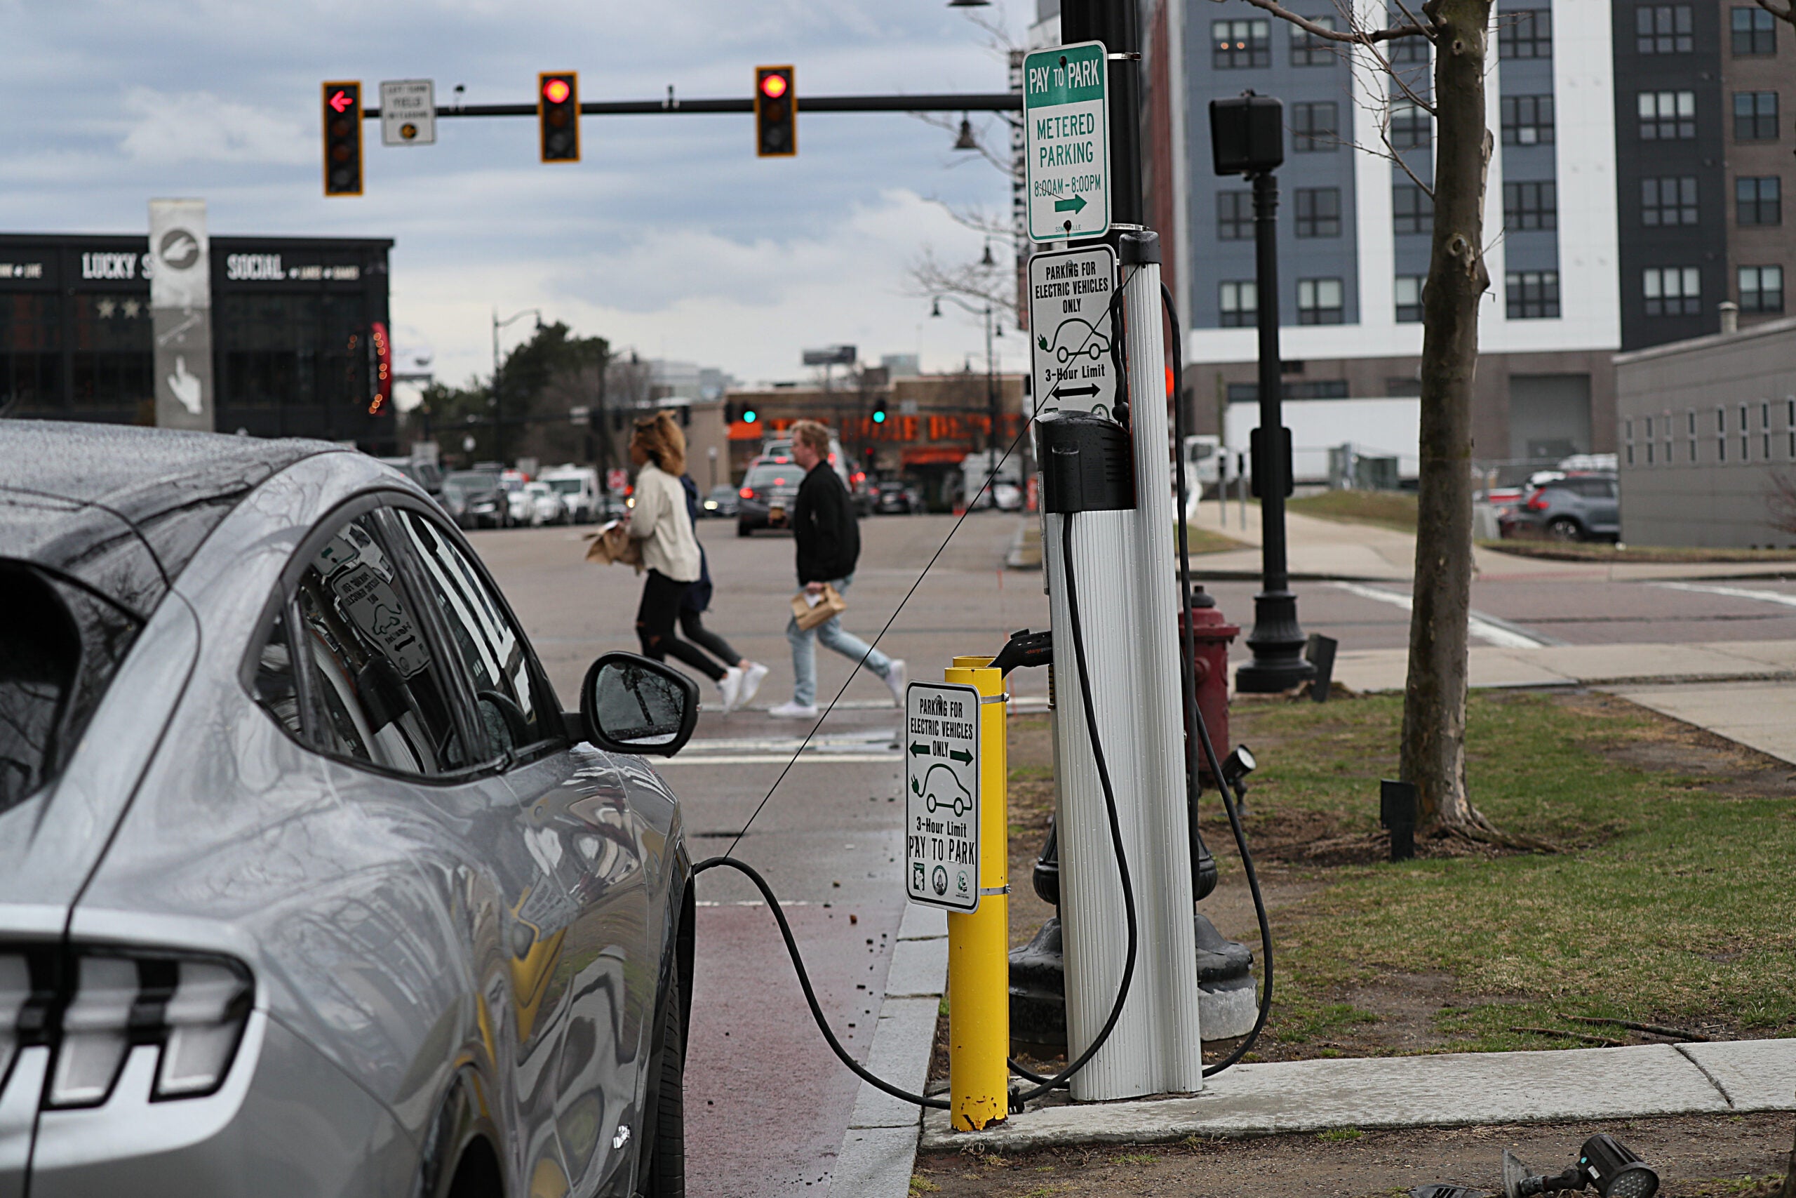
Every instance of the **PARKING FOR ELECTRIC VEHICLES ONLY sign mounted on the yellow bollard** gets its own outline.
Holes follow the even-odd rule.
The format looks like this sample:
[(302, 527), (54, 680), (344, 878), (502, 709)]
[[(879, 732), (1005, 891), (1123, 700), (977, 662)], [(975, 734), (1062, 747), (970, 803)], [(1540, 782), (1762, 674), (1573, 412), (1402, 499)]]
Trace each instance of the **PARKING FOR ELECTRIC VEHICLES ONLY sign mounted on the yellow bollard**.
[(979, 909), (979, 691), (911, 683), (903, 693), (905, 896)]

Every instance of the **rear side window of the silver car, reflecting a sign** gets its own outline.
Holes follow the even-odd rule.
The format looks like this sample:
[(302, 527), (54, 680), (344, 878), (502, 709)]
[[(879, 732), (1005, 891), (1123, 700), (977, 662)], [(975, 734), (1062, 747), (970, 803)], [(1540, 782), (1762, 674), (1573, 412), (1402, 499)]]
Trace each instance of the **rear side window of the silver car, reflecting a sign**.
[[(467, 769), (454, 675), (435, 657), (370, 515), (345, 521), (311, 553), (295, 593), (298, 623), (277, 609), (262, 638), (257, 702), (287, 731), (298, 724), (320, 753), (402, 774)], [(289, 708), (295, 665), (300, 699)]]

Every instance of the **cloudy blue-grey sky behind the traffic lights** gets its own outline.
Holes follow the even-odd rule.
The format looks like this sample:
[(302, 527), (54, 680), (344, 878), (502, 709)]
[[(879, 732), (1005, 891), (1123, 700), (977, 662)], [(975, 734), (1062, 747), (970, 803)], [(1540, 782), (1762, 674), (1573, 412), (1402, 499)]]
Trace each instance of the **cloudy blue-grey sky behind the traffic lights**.
[[(986, 13), (1020, 40), (1031, 9)], [(381, 79), (429, 77), (442, 104), (458, 83), (496, 104), (578, 70), (582, 99), (745, 97), (756, 63), (794, 63), (803, 111), (1000, 92), (988, 43), (945, 0), (0, 0), (0, 230), (136, 232), (153, 196), (199, 196), (214, 233), (392, 237), (397, 339), (445, 381), (489, 368), (494, 307), (751, 381), (841, 341), (982, 366), (979, 322), (929, 320), (905, 278), (925, 248), (981, 253), (932, 201), (1002, 212), (1008, 187), (912, 117), (801, 115), (796, 160), (754, 158), (749, 117), (585, 117), (577, 165), (539, 163), (528, 117), (402, 149), (370, 122), (366, 194), (323, 199), (318, 84), (361, 79), (372, 106)], [(1000, 348), (1026, 366), (1024, 338)]]

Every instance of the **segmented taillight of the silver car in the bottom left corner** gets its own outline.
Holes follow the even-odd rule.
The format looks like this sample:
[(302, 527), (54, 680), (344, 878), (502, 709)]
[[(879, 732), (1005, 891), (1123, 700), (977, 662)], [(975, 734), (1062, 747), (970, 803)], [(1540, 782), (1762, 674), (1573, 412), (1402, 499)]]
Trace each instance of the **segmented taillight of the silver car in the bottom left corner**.
[(250, 972), (224, 957), (0, 952), (0, 1078), (23, 1045), (52, 1051), (47, 1106), (99, 1106), (131, 1049), (160, 1049), (154, 1099), (223, 1085), (250, 1018)]

